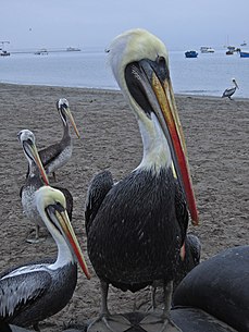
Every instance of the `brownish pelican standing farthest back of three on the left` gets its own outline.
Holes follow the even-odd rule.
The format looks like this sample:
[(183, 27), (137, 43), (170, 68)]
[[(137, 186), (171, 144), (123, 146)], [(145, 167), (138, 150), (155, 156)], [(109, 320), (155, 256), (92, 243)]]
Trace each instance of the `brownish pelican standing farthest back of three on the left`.
[(47, 174), (53, 173), (54, 179), (55, 171), (70, 160), (73, 152), (69, 121), (72, 123), (77, 137), (80, 137), (74, 118), (71, 113), (69, 101), (65, 98), (59, 99), (57, 102), (57, 109), (63, 123), (63, 137), (59, 143), (39, 150), (39, 156)]

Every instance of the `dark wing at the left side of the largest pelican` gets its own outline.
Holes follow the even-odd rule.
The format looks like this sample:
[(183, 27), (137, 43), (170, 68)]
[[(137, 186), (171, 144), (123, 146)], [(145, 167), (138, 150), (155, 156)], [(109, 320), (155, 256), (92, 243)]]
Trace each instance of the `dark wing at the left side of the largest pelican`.
[(86, 231), (88, 232), (91, 221), (95, 219), (108, 192), (113, 186), (111, 172), (103, 171), (97, 174), (90, 182), (85, 210)]

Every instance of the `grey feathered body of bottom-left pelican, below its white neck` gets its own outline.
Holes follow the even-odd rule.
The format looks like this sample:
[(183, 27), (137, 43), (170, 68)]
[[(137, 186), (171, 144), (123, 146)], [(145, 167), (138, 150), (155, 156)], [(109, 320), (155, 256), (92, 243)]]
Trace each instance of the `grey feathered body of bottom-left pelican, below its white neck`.
[(13, 269), (0, 275), (0, 319), (20, 327), (36, 325), (63, 309), (77, 282), (76, 263), (58, 270), (49, 269), (48, 260), (25, 267), (30, 272), (8, 276)]

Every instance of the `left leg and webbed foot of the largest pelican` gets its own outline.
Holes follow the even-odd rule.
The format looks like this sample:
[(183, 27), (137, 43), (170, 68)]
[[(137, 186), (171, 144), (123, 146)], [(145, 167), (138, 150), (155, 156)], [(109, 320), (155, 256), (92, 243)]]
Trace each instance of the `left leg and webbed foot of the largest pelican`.
[(87, 332), (124, 332), (130, 328), (129, 321), (122, 315), (111, 316), (108, 309), (109, 283), (100, 281), (101, 310), (100, 316), (88, 327)]

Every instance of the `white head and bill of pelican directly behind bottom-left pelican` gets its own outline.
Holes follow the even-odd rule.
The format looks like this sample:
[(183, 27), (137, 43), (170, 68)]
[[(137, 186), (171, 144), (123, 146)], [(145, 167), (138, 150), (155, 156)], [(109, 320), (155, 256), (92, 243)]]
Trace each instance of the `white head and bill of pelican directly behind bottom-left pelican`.
[(40, 171), (40, 175), (45, 184), (49, 184), (48, 175), (43, 169), (42, 162), (40, 160), (38, 150), (36, 148), (35, 135), (28, 130), (23, 130), (17, 134), (18, 142), (22, 144), (24, 155), (26, 156), (29, 164), (35, 162)]

